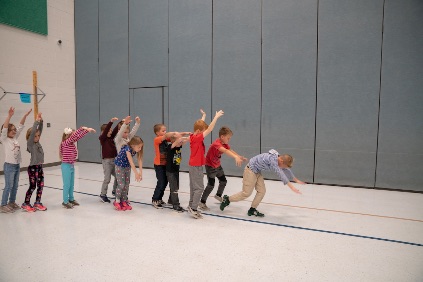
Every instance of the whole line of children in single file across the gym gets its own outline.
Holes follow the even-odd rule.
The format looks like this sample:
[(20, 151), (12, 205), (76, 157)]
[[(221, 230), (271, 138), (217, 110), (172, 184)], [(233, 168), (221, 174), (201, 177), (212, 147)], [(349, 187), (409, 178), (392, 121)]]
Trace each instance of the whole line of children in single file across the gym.
[[(257, 194), (252, 202), (251, 208), (247, 214), (249, 216), (263, 217), (264, 214), (257, 211), (257, 207), (263, 199), (266, 188), (261, 172), (271, 170), (278, 174), (282, 182), (288, 185), (294, 192), (301, 194), (290, 182), (305, 184), (298, 180), (290, 170), (293, 158), (290, 155), (279, 155), (275, 150), (268, 153), (257, 155), (248, 161), (231, 149), (229, 142), (233, 135), (232, 131), (223, 126), (219, 130), (219, 137), (210, 145), (207, 154), (205, 152), (204, 138), (209, 135), (215, 127), (217, 120), (224, 115), (223, 111), (216, 112), (213, 120), (208, 125), (205, 122), (206, 113), (200, 110), (202, 118), (194, 123), (193, 132), (167, 132), (164, 124), (154, 126), (154, 170), (157, 178), (157, 185), (152, 196), (152, 205), (157, 209), (170, 205), (177, 212), (186, 211), (179, 202), (179, 167), (181, 163), (182, 146), (190, 143), (189, 158), (189, 181), (190, 181), (190, 199), (187, 207), (188, 212), (194, 218), (203, 218), (200, 210), (207, 211), (207, 198), (214, 189), (215, 178), (219, 185), (214, 196), (221, 202), (220, 209), (223, 211), (231, 202), (237, 202), (249, 197), (254, 188)], [(17, 209), (24, 209), (28, 212), (36, 210), (45, 211), (47, 208), (41, 203), (41, 196), (44, 186), (43, 162), (44, 152), (39, 142), (43, 129), (43, 120), (41, 113), (37, 115), (32, 128), (28, 129), (27, 151), (31, 153), (30, 165), (28, 166), (29, 189), (25, 196), (25, 201), (21, 205), (16, 204), (16, 193), (19, 181), (19, 170), (21, 162), (20, 146), (17, 138), (23, 130), (26, 117), (31, 113), (29, 110), (22, 118), (18, 127), (10, 123), (14, 114), (14, 108), (9, 109), (8, 116), (2, 126), (1, 143), (5, 149), (5, 188), (3, 190), (0, 212), (10, 213)], [(119, 122), (112, 130), (112, 125), (118, 118), (112, 118), (109, 123), (101, 126), (99, 136), (102, 152), (102, 165), (104, 171), (104, 180), (101, 187), (100, 198), (105, 203), (111, 201), (107, 197), (108, 185), (111, 182), (111, 176), (114, 176), (113, 191), (115, 196), (113, 206), (117, 211), (132, 210), (128, 200), (128, 191), (130, 184), (131, 171), (134, 173), (135, 180), (142, 180), (143, 163), (143, 140), (135, 136), (139, 126), (140, 118), (135, 118), (135, 125), (130, 130), (131, 117), (127, 116)], [(75, 143), (89, 132), (96, 132), (92, 128), (81, 127), (78, 130), (65, 128), (60, 143), (59, 153), (62, 161), (62, 179), (63, 179), (63, 203), (62, 206), (72, 209), (79, 203), (73, 195), (74, 190), (74, 163), (77, 159), (77, 148)], [(228, 197), (223, 195), (227, 180), (221, 166), (220, 158), (226, 154), (235, 160), (237, 166), (247, 162), (243, 174), (242, 191)], [(134, 157), (138, 162), (138, 170), (134, 163)], [(204, 188), (203, 167), (205, 166), (207, 174), (207, 186)], [(167, 184), (170, 187), (169, 199), (167, 203), (163, 201), (164, 191)], [(37, 188), (37, 196), (34, 205), (30, 200), (32, 193)]]

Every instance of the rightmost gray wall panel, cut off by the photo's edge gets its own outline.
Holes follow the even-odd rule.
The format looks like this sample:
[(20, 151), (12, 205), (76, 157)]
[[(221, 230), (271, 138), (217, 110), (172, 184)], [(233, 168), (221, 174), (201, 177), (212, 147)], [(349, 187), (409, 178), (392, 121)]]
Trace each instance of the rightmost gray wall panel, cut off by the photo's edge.
[(423, 191), (423, 2), (385, 3), (376, 186)]

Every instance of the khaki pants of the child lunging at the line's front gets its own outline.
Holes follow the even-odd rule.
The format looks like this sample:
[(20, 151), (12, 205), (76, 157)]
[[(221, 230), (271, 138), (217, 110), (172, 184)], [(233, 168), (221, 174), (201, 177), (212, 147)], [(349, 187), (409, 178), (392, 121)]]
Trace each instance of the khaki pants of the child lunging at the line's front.
[(230, 202), (239, 202), (247, 199), (256, 188), (256, 196), (254, 197), (252, 208), (257, 208), (266, 194), (266, 186), (264, 185), (264, 178), (260, 173), (254, 173), (246, 166), (244, 175), (242, 176), (242, 191), (229, 197)]

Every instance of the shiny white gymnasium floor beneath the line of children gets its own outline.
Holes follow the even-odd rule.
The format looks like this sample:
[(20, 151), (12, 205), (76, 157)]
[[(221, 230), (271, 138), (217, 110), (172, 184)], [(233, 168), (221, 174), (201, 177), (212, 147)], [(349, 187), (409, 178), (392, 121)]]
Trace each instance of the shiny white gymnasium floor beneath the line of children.
[[(76, 165), (72, 210), (60, 167), (44, 171), (48, 211), (0, 214), (0, 281), (423, 281), (423, 194), (298, 185), (297, 195), (266, 181), (266, 217), (248, 217), (250, 201), (221, 212), (211, 197), (194, 219), (151, 206), (154, 170), (132, 180), (125, 212), (100, 201), (101, 164)], [(21, 172), (19, 204), (27, 184)], [(186, 173), (180, 189), (186, 207)]]

